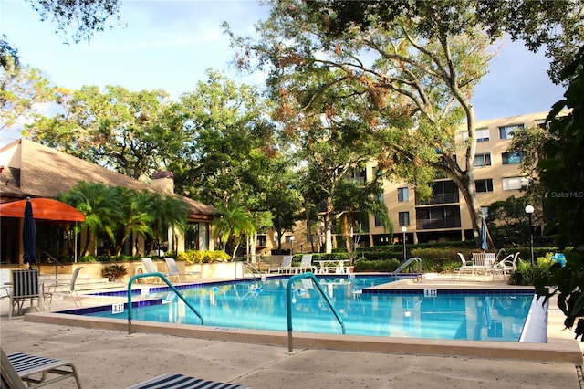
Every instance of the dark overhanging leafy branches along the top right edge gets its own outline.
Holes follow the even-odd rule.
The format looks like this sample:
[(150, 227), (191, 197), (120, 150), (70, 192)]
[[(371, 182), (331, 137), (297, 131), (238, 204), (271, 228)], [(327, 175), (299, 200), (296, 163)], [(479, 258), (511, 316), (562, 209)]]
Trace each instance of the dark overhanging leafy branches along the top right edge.
[[(561, 82), (560, 70), (578, 51), (584, 40), (584, 3), (581, 0), (388, 0), (388, 1), (307, 1), (308, 6), (323, 15), (334, 10), (334, 18), (323, 18), (328, 34), (338, 36), (352, 26), (367, 30), (373, 18), (390, 25), (399, 16), (420, 20), (422, 37), (439, 37), (445, 32), (456, 35), (469, 32), (473, 26), (485, 26), (495, 39), (508, 34), (523, 40), (536, 52), (545, 47), (551, 64), (548, 70), (554, 82)], [(460, 9), (473, 9), (468, 19)]]

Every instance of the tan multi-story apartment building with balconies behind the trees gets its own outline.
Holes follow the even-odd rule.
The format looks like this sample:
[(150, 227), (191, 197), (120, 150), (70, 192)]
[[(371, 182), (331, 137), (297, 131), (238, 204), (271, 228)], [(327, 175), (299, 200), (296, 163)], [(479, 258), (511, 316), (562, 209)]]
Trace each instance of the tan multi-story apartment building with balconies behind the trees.
[[(523, 154), (509, 150), (514, 131), (531, 126), (545, 126), (548, 112), (477, 121), (475, 128), (477, 146), (474, 160), (476, 192), (483, 213), (488, 216), (489, 205), (495, 201), (505, 200), (511, 195), (521, 196), (520, 189), (528, 184), (527, 177), (520, 170)], [(468, 133), (456, 133), (456, 142), (464, 142)], [(464, 163), (464, 155), (457, 160)], [(464, 168), (464, 166), (462, 166)], [(373, 174), (371, 164), (365, 171), (355, 174), (359, 180), (368, 180)], [(393, 236), (384, 231), (379, 220), (370, 216), (360, 234), (360, 246), (384, 246), (401, 243), (404, 235), (401, 227), (406, 228), (408, 243), (422, 243), (442, 240), (474, 239), (470, 214), (464, 197), (453, 181), (437, 179), (433, 184), (433, 197), (420, 201), (412, 185), (407, 183), (386, 182), (383, 185), (383, 200), (387, 205)], [(273, 236), (261, 237), (265, 248), (275, 248)], [(323, 237), (307, 233), (306, 223), (299, 222), (293, 234), (287, 234), (282, 240), (282, 248), (294, 252), (312, 251), (322, 243)]]

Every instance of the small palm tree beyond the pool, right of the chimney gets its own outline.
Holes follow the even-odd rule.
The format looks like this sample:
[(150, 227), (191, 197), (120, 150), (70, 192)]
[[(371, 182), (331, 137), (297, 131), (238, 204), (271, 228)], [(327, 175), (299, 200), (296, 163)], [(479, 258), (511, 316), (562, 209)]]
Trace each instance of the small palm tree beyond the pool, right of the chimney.
[(231, 258), (235, 258), (241, 238), (255, 233), (253, 216), (244, 206), (235, 203), (219, 205), (217, 211), (220, 217), (213, 221), (214, 238), (219, 238), (224, 252), (232, 250)]

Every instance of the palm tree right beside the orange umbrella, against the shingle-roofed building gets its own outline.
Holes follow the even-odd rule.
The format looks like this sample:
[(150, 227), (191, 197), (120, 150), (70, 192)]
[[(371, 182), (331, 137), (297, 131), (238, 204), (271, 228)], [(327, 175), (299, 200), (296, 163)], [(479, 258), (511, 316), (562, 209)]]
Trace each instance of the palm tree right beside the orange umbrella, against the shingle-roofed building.
[(85, 215), (85, 221), (81, 227), (87, 228), (88, 236), (81, 252), (82, 256), (89, 254), (88, 250), (92, 243), (93, 254), (97, 255), (98, 245), (95, 244), (95, 239), (100, 234), (105, 233), (115, 244), (115, 231), (122, 215), (120, 194), (116, 188), (100, 183), (80, 181), (59, 197), (61, 201), (75, 206)]

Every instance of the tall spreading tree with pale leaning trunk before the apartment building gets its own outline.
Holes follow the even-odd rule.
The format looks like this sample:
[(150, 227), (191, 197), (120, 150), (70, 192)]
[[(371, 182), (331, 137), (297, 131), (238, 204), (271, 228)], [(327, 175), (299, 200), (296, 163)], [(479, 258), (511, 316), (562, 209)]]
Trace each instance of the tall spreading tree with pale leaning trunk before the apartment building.
[[(474, 14), (459, 11), (459, 23), (469, 26), (458, 34), (446, 30), (428, 38), (419, 19), (396, 16), (388, 23), (374, 15), (364, 30), (329, 34), (337, 17), (333, 8), (315, 12), (302, 1), (279, 1), (273, 2), (269, 19), (258, 24), (259, 37), (235, 37), (235, 43), (242, 48), (242, 66), (256, 58), (259, 67), (269, 70), (267, 82), (273, 96), (280, 95), (281, 110), (292, 110), (288, 123), (297, 120), (297, 129), (308, 127), (307, 133), (321, 130), (317, 121), (308, 126), (303, 121), (328, 113), (326, 96), (334, 110), (326, 126), (334, 132), (329, 147), (349, 127), (358, 144), (379, 146), (370, 156), (380, 172), (399, 174), (420, 192), (426, 188), (426, 194), (433, 172), (445, 173), (461, 190), (478, 231), (471, 98), (493, 52)], [(469, 141), (461, 149), (454, 134), (464, 121)]]

